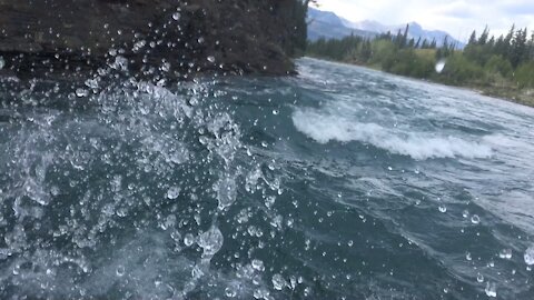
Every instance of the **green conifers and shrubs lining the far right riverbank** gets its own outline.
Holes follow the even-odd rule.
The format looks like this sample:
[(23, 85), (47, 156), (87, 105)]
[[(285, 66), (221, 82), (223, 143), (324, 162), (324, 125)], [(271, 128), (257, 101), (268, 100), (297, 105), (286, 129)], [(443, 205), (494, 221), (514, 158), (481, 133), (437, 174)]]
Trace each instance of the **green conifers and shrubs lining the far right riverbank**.
[[(365, 39), (349, 36), (340, 40), (319, 39), (308, 42), (307, 54), (336, 61), (370, 66), (386, 72), (429, 79), (447, 84), (534, 88), (534, 34), (511, 28), (507, 34), (491, 36), (490, 29), (478, 36), (473, 31), (463, 50), (445, 39), (422, 40), (408, 37), (409, 26), (398, 31)], [(443, 60), (443, 71), (436, 63)]]

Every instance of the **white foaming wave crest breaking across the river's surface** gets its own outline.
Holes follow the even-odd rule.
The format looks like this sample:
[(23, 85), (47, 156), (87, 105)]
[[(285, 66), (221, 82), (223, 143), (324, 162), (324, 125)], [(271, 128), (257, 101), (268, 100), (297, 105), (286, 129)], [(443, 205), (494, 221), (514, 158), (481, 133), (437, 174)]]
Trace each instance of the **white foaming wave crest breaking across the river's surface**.
[(339, 116), (297, 110), (293, 123), (298, 131), (319, 143), (359, 141), (415, 160), (432, 158), (490, 158), (492, 148), (455, 137), (394, 132), (376, 123), (360, 123)]

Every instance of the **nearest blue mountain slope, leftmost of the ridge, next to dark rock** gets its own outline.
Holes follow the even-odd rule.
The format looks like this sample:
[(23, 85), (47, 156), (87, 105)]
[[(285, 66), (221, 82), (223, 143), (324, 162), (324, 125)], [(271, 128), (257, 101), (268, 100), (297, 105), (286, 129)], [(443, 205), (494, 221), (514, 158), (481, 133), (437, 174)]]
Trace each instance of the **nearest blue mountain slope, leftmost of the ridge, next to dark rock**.
[(349, 28), (345, 26), (347, 20), (339, 18), (330, 11), (322, 11), (314, 8), (308, 10), (308, 40), (315, 41), (319, 38), (325, 39), (343, 39), (350, 34), (374, 38), (375, 32), (360, 30), (357, 28)]

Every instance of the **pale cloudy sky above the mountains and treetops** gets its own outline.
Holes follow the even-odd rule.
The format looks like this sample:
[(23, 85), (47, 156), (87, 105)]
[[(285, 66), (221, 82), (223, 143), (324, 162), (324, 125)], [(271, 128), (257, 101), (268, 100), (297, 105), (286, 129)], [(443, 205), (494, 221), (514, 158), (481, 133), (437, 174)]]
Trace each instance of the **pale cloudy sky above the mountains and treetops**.
[(376, 20), (385, 24), (409, 21), (441, 29), (467, 40), (473, 29), (487, 24), (496, 36), (516, 27), (534, 29), (534, 0), (319, 0), (322, 10), (350, 21)]

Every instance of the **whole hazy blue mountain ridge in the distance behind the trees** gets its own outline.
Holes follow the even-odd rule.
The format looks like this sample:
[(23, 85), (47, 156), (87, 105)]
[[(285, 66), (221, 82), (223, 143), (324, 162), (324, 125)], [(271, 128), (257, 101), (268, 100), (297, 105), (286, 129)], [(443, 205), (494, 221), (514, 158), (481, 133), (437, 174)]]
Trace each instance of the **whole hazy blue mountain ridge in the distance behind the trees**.
[[(442, 46), (447, 39), (457, 48), (464, 48), (465, 43), (453, 38), (449, 33), (442, 30), (425, 30), (417, 22), (409, 22), (408, 38), (418, 40), (427, 40), (428, 42), (436, 40), (437, 46)], [(390, 32), (396, 34), (399, 30), (404, 32), (405, 24), (387, 26), (374, 20), (364, 20), (352, 22), (338, 17), (330, 11), (322, 11), (310, 8), (308, 11), (308, 39), (314, 41), (320, 37), (326, 39), (343, 39), (344, 37), (355, 34), (365, 38), (374, 38), (380, 33)]]

